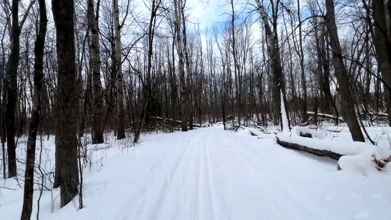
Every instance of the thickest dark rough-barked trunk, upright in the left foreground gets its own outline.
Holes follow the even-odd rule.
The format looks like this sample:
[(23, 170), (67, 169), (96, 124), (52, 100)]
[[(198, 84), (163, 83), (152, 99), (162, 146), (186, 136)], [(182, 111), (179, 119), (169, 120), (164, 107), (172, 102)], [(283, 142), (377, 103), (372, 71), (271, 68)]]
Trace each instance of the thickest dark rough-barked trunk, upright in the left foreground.
[(60, 205), (64, 207), (77, 194), (76, 81), (74, 45), (74, 1), (52, 1), (57, 48), (57, 132), (56, 173), (59, 178)]

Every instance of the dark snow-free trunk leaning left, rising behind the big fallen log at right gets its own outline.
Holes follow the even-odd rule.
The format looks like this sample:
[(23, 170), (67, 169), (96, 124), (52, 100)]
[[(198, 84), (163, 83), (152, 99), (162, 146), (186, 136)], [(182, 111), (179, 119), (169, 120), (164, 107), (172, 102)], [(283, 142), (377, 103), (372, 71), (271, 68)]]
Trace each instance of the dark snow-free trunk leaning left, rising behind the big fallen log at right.
[(341, 95), (342, 117), (346, 121), (346, 124), (348, 124), (353, 141), (365, 142), (354, 110), (355, 99), (352, 97), (349, 76), (342, 60), (341, 45), (339, 44), (337, 26), (335, 25), (334, 2), (333, 0), (325, 0), (325, 2), (327, 10), (326, 23), (330, 33), (330, 46), (333, 53), (335, 77), (337, 78)]

